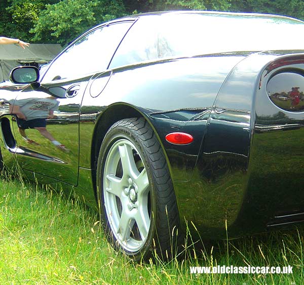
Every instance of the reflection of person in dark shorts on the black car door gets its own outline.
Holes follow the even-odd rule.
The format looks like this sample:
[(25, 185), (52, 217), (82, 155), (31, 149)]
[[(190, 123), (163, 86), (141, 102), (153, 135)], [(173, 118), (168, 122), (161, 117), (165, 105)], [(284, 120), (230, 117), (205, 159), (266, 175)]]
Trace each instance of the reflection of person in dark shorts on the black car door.
[(56, 141), (55, 138), (48, 132), (46, 126), (46, 119), (54, 117), (54, 110), (58, 109), (59, 102), (55, 97), (48, 98), (29, 98), (16, 100), (10, 113), (16, 114), (18, 130), (23, 139), (30, 144), (37, 144), (26, 136), (26, 129), (35, 129), (40, 132), (42, 136), (47, 138), (57, 148), (68, 152), (69, 149), (63, 144)]

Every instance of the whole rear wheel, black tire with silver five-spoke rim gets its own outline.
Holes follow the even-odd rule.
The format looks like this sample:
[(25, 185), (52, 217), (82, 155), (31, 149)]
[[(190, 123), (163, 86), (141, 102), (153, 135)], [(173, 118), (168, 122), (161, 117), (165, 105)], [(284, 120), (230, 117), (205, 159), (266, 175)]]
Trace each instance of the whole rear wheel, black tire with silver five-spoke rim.
[(175, 255), (180, 231), (173, 184), (161, 145), (143, 118), (120, 120), (106, 133), (97, 192), (101, 221), (115, 249), (135, 261), (149, 259), (151, 252), (162, 259)]

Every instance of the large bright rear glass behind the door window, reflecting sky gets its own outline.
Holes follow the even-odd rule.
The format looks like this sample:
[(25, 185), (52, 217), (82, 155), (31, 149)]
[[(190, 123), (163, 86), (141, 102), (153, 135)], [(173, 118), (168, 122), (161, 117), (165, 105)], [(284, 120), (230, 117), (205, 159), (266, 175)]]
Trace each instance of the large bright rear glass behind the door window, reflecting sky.
[[(304, 23), (275, 16), (172, 13), (139, 19), (110, 68), (136, 62), (211, 53), (301, 50)], [(289, 39), (289, 40), (286, 40)]]

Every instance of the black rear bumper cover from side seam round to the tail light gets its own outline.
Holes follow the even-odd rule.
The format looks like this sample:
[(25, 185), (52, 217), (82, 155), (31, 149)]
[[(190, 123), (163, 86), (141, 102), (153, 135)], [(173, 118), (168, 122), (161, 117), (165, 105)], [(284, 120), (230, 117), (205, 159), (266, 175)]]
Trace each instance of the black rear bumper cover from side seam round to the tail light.
[[(225, 227), (229, 238), (264, 231), (279, 210), (303, 212), (297, 149), (302, 129), (259, 131), (261, 124), (282, 123), (276, 120), (281, 110), (266, 92), (271, 77), (267, 69), (279, 56), (253, 54), (227, 77), (207, 123), (192, 183), (179, 185), (188, 193), (179, 203), (181, 216), (205, 237), (226, 238)], [(303, 112), (285, 116), (289, 123), (297, 119), (303, 125)], [(288, 138), (293, 143), (283, 142)]]

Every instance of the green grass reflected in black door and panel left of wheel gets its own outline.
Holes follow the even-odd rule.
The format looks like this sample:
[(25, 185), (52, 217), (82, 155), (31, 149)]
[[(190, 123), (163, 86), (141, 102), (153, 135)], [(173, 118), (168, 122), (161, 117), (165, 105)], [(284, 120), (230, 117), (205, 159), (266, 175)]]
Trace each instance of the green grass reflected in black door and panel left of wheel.
[[(25, 130), (26, 135), (39, 145), (25, 142), (18, 132), (17, 123), (13, 122), (16, 140), (19, 146), (34, 150), (38, 153), (55, 157), (66, 164), (56, 164), (56, 169), (50, 167), (46, 169), (45, 162), (34, 160), (27, 169), (37, 173), (45, 173), (51, 177), (63, 181), (77, 180), (78, 166), (91, 168), (91, 144), (94, 124), (92, 122), (82, 122), (80, 128), (80, 148), (79, 148), (79, 125), (78, 123), (69, 124), (47, 124), (48, 132), (61, 144), (68, 148), (69, 152), (64, 152), (54, 146), (48, 139), (43, 137), (39, 131), (34, 129)], [(28, 157), (20, 157), (21, 165), (28, 163)], [(55, 165), (54, 165), (55, 166)], [(68, 169), (67, 169), (68, 166)], [(44, 172), (42, 172), (44, 171)], [(46, 173), (47, 171), (47, 173)], [(54, 175), (54, 176), (53, 176)]]

